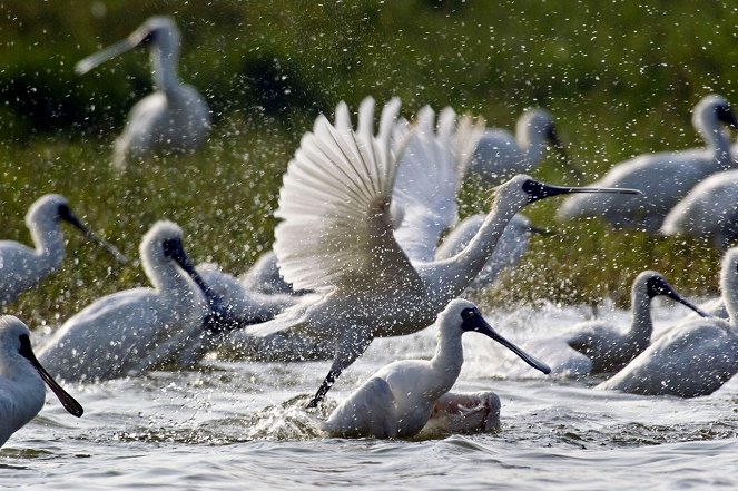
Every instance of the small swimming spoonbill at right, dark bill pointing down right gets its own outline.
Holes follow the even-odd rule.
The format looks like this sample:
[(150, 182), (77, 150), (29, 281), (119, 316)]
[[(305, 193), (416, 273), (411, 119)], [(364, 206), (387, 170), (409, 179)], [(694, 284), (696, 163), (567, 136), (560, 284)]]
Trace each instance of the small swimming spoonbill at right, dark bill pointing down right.
[(528, 350), (539, 350), (549, 356), (554, 375), (571, 377), (614, 373), (646, 350), (653, 334), (651, 301), (665, 295), (691, 308), (703, 317), (706, 313), (677, 293), (661, 274), (644, 271), (639, 274), (630, 293), (631, 324), (627, 331), (606, 321), (590, 321), (573, 326), (561, 336), (544, 337), (525, 343)]

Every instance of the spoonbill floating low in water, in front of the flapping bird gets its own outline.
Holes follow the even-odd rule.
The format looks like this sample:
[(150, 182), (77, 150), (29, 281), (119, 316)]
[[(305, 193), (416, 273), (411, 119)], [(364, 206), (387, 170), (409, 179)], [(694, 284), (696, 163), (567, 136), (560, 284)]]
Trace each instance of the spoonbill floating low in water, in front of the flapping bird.
[[(439, 344), (431, 360), (403, 360), (384, 366), (333, 411), (323, 429), (331, 436), (412, 438), (423, 430), (432, 416), (436, 420), (434, 430), (437, 431), (445, 420), (454, 415), (461, 415), (461, 420), (466, 423), (454, 422), (455, 430), (496, 429), (494, 423), (499, 423), (500, 410), (498, 397), (491, 399), (489, 394), (482, 401), (473, 397), (473, 403), (491, 400), (491, 404), (486, 407), (478, 404), (470, 407), (468, 395), (449, 392), (464, 362), (461, 336), (466, 332), (484, 334), (512, 350), (532, 367), (543, 373), (550, 371), (544, 363), (498, 334), (471, 302), (452, 301), (439, 315), (436, 325)], [(476, 414), (464, 414), (464, 411)], [(493, 428), (490, 428), (483, 416), (486, 412), (489, 420), (493, 411), (496, 414), (493, 414)]]

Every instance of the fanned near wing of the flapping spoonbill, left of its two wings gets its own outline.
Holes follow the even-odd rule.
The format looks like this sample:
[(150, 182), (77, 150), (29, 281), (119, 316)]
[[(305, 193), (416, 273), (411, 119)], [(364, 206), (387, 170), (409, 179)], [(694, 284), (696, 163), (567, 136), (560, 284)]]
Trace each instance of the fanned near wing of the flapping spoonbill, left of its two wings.
[(417, 273), (392, 234), (397, 165), (392, 127), (400, 100), (383, 109), (373, 135), (374, 100), (353, 130), (340, 105), (336, 126), (319, 116), (289, 163), (279, 192), (274, 252), (296, 289), (386, 291), (417, 286)]

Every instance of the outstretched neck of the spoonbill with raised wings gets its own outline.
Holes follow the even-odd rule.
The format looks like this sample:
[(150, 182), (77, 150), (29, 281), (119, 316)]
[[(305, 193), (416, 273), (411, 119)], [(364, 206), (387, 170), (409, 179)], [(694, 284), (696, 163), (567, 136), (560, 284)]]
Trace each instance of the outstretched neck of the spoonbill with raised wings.
[(521, 208), (519, 203), (500, 198), (495, 197), (482, 226), (459, 254), (419, 267), (421, 276), (449, 299), (459, 296), (482, 271), (505, 226)]

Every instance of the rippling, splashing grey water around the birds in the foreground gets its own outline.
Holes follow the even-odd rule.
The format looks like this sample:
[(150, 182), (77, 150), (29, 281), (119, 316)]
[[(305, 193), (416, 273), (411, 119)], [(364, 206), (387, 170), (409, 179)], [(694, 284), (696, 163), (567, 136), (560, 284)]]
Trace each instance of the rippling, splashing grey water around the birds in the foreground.
[[(663, 327), (683, 308), (657, 306)], [(551, 305), (489, 313), (515, 341), (560, 332), (586, 308)], [(627, 322), (606, 307), (600, 316)], [(504, 380), (498, 348), (464, 336), (454, 391), (494, 390), (502, 430), (424, 441), (326, 439), (319, 423), (380, 366), (430, 356), (433, 328), (378, 340), (329, 393), (302, 407), (327, 362), (269, 364), (210, 359), (203, 372), (68, 386), (86, 409), (67, 414), (49, 396), (0, 451), (0, 487), (43, 490), (737, 489), (738, 381), (693, 400), (593, 391), (597, 380)], [(522, 363), (522, 362), (521, 362)], [(532, 372), (531, 372), (532, 373)]]

